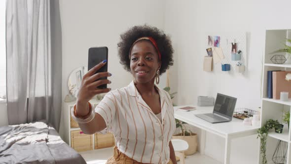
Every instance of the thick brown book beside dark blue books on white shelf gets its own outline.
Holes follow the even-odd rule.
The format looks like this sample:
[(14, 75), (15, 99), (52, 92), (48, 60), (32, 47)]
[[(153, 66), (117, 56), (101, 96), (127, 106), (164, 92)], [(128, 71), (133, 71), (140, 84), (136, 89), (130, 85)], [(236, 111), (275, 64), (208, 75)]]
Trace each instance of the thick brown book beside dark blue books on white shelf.
[(285, 77), (291, 71), (274, 71), (273, 76), (273, 99), (280, 99), (280, 92), (289, 92), (291, 98), (291, 81), (288, 82)]

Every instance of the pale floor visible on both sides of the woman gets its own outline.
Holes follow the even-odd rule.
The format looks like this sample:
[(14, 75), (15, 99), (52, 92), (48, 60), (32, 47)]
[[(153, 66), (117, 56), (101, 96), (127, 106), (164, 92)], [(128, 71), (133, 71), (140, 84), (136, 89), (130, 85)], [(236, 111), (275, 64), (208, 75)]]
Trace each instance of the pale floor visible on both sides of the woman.
[[(112, 148), (80, 152), (80, 155), (86, 160), (87, 164), (105, 164), (107, 159), (112, 155)], [(180, 164), (180, 162), (178, 162)], [(219, 164), (208, 156), (195, 153), (187, 156), (185, 164)]]

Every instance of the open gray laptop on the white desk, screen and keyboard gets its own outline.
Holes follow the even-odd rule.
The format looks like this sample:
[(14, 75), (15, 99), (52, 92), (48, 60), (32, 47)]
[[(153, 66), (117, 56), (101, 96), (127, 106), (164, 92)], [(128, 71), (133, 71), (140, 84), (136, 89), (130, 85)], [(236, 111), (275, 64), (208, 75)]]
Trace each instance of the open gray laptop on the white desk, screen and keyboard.
[(209, 123), (230, 122), (234, 112), (236, 98), (224, 94), (217, 94), (213, 113), (197, 114), (196, 117)]

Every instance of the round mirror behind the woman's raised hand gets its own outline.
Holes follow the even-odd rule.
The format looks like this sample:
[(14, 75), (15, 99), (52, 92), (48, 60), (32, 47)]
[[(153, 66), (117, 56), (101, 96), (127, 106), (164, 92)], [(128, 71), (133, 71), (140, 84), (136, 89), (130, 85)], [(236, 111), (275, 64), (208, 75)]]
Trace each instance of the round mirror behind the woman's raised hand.
[(76, 68), (72, 71), (69, 77), (68, 86), (70, 93), (77, 97), (77, 93), (79, 90), (79, 87), (81, 85), (81, 81), (83, 76), (88, 72), (87, 66)]

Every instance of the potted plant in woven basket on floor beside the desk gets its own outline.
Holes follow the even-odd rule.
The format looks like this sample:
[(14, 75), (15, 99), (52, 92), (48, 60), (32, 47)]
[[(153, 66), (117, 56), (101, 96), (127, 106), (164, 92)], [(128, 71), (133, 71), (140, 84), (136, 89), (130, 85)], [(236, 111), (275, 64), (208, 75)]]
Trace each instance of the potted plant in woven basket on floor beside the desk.
[[(174, 94), (176, 94), (177, 92), (174, 92), (174, 93), (170, 93), (170, 87), (165, 87), (164, 90), (167, 91), (170, 96), (171, 96), (171, 99), (174, 98)], [(175, 104), (173, 104), (173, 106), (176, 106)], [(187, 123), (184, 123), (180, 120), (176, 120), (176, 128), (181, 131), (181, 133), (178, 133), (176, 135), (173, 135), (172, 138), (173, 139), (182, 139), (184, 141), (186, 141), (189, 145), (189, 148), (188, 150), (184, 151), (184, 154), (185, 155), (192, 155), (194, 153), (197, 152), (197, 134), (196, 133), (193, 133), (191, 130), (189, 130), (185, 124)]]

